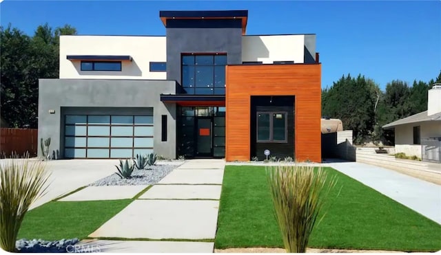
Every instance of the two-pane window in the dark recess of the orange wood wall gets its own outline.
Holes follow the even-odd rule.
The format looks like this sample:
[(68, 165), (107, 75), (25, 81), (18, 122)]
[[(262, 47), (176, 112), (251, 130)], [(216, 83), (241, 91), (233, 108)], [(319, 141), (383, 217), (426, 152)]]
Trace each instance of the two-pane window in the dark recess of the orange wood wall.
[(287, 112), (257, 113), (257, 142), (287, 142)]

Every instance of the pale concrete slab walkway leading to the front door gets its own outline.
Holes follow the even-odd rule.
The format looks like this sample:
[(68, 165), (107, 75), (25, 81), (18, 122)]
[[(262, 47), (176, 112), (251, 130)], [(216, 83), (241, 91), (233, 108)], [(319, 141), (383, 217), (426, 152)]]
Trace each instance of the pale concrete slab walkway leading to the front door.
[(114, 240), (89, 245), (103, 252), (212, 253), (224, 167), (223, 159), (185, 162), (89, 235)]

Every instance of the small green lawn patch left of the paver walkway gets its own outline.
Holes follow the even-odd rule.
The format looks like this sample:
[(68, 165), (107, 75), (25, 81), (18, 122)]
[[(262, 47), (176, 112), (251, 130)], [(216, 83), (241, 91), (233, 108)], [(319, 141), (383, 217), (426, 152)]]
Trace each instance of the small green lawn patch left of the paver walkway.
[(18, 239), (83, 239), (132, 199), (45, 203), (26, 213)]

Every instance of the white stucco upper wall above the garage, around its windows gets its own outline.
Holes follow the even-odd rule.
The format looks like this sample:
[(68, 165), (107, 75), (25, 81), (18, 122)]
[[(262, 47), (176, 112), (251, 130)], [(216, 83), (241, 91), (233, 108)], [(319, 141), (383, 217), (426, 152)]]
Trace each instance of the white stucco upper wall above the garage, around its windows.
[[(167, 59), (165, 36), (60, 36), (60, 78), (165, 80), (165, 71), (150, 71), (150, 62)], [(121, 71), (81, 71), (68, 55), (128, 55)]]

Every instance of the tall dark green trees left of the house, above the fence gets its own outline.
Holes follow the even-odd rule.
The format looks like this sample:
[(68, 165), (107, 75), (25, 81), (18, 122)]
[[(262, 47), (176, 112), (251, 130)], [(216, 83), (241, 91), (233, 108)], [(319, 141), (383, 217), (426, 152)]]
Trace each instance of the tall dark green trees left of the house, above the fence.
[(0, 27), (1, 116), (12, 127), (38, 126), (38, 80), (59, 77), (59, 36), (74, 27), (39, 25), (28, 36), (8, 25)]

